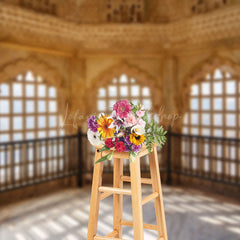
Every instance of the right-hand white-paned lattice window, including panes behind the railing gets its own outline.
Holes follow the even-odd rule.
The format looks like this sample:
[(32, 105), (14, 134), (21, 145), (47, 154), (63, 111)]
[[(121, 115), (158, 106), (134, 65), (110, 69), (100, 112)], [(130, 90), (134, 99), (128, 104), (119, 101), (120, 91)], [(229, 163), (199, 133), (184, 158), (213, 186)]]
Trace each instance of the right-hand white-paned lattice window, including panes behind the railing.
[[(182, 139), (185, 169), (218, 174), (221, 179), (239, 177), (240, 81), (237, 76), (216, 69), (192, 85), (183, 133), (192, 136)], [(224, 137), (228, 141), (208, 136)]]

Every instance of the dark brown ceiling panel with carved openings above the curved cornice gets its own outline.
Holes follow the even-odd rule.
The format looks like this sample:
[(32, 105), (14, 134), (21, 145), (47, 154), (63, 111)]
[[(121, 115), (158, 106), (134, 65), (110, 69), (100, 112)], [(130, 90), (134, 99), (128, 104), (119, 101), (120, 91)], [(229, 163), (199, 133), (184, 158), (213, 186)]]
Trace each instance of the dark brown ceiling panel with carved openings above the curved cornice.
[(76, 23), (164, 23), (207, 13), (239, 0), (0, 0)]

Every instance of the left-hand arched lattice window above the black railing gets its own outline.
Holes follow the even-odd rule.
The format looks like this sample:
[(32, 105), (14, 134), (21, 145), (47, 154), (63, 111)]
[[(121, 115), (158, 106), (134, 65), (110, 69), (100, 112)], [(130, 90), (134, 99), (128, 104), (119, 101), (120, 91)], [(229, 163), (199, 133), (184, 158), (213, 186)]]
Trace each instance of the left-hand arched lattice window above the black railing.
[(63, 134), (57, 91), (28, 71), (0, 84), (0, 141)]

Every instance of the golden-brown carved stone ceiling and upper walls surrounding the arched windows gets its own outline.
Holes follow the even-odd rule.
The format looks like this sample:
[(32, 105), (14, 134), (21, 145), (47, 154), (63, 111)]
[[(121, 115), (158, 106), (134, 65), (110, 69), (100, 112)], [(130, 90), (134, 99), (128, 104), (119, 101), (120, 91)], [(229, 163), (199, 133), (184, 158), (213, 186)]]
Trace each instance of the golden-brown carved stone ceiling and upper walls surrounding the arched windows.
[[(44, 4), (0, 2), (0, 81), (26, 69), (43, 75), (61, 92), (62, 115), (67, 106), (72, 114), (94, 112), (97, 89), (125, 73), (151, 88), (154, 112), (164, 109), (165, 114), (183, 116), (191, 84), (207, 70), (226, 65), (240, 74), (237, 0)], [(138, 5), (142, 21), (131, 10)], [(107, 14), (122, 8), (129, 8), (133, 20), (125, 13), (106, 20)], [(174, 125), (176, 131), (181, 131), (181, 121)], [(83, 126), (86, 117), (77, 122)], [(66, 132), (76, 129), (68, 127)]]

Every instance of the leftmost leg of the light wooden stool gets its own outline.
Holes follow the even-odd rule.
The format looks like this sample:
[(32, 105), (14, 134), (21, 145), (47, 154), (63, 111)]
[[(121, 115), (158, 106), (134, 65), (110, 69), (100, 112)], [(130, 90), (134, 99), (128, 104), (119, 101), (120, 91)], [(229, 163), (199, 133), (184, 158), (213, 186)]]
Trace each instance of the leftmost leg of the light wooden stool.
[[(96, 150), (95, 162), (100, 159), (101, 156), (102, 154)], [(97, 222), (100, 202), (100, 193), (98, 191), (98, 188), (102, 185), (102, 172), (103, 162), (94, 165), (87, 240), (93, 240), (94, 236), (97, 234)]]

